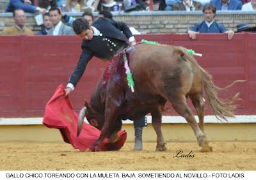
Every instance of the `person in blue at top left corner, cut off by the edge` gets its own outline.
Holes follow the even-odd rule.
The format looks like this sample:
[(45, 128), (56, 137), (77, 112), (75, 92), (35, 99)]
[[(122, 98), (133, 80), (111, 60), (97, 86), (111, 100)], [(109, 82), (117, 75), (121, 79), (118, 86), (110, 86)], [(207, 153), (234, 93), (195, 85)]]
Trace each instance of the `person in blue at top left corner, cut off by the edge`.
[(24, 10), (27, 13), (45, 13), (45, 8), (40, 8), (31, 5), (33, 3), (33, 0), (10, 0), (9, 4), (7, 5), (5, 11), (12, 12), (15, 9), (21, 9)]

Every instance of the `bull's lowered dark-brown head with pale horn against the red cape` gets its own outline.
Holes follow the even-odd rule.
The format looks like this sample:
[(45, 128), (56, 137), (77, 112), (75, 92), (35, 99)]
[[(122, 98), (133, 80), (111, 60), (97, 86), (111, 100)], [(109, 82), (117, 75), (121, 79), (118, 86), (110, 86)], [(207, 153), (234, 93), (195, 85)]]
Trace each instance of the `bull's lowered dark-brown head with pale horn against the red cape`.
[(77, 137), (79, 136), (84, 123), (84, 117), (86, 117), (87, 121), (97, 128), (101, 130), (104, 124), (104, 115), (96, 112), (95, 110), (90, 107), (87, 101), (84, 101), (84, 107), (79, 112), (78, 117), (78, 126), (77, 126)]

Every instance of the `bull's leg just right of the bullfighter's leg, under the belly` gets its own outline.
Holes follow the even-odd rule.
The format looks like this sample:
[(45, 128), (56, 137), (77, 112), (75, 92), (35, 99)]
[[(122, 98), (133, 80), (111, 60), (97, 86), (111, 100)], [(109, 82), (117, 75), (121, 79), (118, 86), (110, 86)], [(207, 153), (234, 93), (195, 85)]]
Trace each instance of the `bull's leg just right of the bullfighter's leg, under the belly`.
[(164, 140), (163, 133), (161, 130), (161, 123), (162, 123), (161, 111), (157, 109), (154, 112), (151, 112), (151, 116), (152, 116), (152, 125), (157, 135), (156, 151), (166, 151), (166, 147), (165, 147), (166, 142)]

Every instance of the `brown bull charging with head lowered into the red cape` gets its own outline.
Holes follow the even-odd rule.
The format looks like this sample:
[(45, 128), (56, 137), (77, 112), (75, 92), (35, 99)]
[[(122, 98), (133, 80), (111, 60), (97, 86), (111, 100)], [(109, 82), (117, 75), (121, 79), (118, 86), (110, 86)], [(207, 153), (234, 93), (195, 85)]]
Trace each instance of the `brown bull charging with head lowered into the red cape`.
[[(124, 52), (123, 52), (124, 53)], [(168, 101), (173, 109), (186, 119), (193, 129), (201, 151), (212, 151), (204, 132), (204, 94), (212, 111), (219, 119), (234, 117), (238, 93), (232, 99), (220, 99), (212, 77), (186, 49), (173, 45), (140, 44), (126, 52), (135, 82), (135, 92), (127, 86), (122, 53), (113, 58), (99, 80), (90, 103), (85, 101), (79, 113), (77, 135), (84, 117), (101, 133), (92, 146), (100, 151), (105, 138), (115, 142), (122, 127), (122, 119), (136, 121), (151, 114), (156, 131), (156, 151), (165, 151), (166, 142), (161, 131), (164, 105)], [(190, 98), (199, 117), (193, 116), (186, 99)]]

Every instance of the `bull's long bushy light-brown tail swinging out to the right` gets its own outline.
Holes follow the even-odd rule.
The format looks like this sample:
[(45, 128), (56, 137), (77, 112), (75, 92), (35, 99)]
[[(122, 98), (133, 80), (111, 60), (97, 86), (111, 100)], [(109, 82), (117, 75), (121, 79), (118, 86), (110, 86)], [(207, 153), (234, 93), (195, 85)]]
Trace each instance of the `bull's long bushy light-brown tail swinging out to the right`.
[[(202, 80), (204, 82), (205, 95), (207, 96), (207, 99), (211, 105), (211, 109), (213, 110), (215, 116), (218, 119), (224, 119), (225, 121), (227, 121), (226, 117), (234, 117), (234, 110), (236, 109), (237, 106), (233, 105), (233, 103), (238, 99), (239, 93), (237, 93), (230, 99), (218, 98), (216, 89), (227, 89), (230, 86), (227, 86), (225, 88), (215, 86), (214, 83), (212, 82), (212, 76), (201, 67), (200, 71), (202, 72)], [(234, 83), (236, 82), (241, 82), (241, 80), (236, 80), (231, 85), (234, 85)]]

